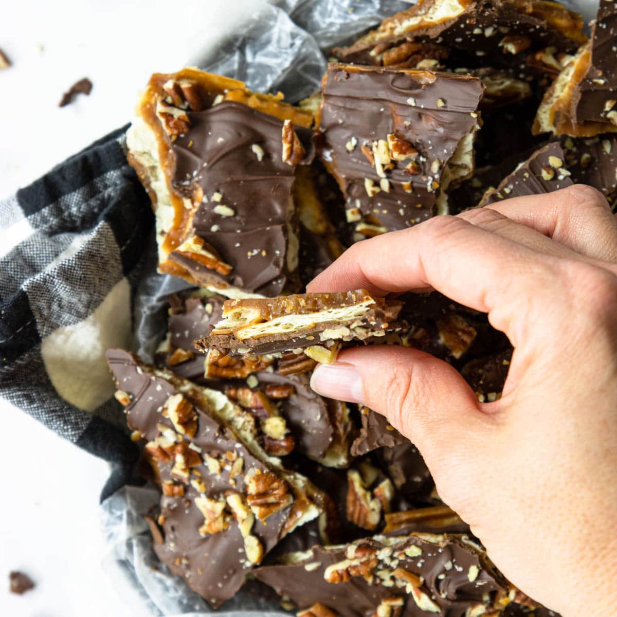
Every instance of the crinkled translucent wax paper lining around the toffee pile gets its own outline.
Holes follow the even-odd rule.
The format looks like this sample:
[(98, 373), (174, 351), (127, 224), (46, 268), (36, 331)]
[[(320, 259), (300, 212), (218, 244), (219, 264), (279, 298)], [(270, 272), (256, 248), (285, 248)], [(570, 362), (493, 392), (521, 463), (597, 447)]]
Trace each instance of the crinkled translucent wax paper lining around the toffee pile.
[[(592, 19), (597, 9), (594, 0), (565, 4), (581, 12), (586, 20)], [(187, 59), (187, 65), (246, 81), (255, 91), (281, 91), (286, 100), (297, 102), (320, 87), (329, 49), (349, 43), (384, 17), (408, 6), (409, 2), (403, 0), (273, 0), (270, 4), (255, 1), (250, 15), (235, 25), (233, 33), (224, 36), (215, 49)], [(167, 296), (188, 288), (180, 279), (156, 273), (154, 238), (148, 263), (135, 305), (137, 349), (147, 362), (152, 360), (164, 336)], [(159, 492), (155, 487), (126, 486), (101, 506), (102, 526), (109, 545), (106, 569), (133, 615), (288, 615), (278, 605), (246, 592), (239, 592), (222, 610), (212, 611), (205, 600), (182, 579), (172, 576), (154, 555), (143, 516), (157, 503)]]

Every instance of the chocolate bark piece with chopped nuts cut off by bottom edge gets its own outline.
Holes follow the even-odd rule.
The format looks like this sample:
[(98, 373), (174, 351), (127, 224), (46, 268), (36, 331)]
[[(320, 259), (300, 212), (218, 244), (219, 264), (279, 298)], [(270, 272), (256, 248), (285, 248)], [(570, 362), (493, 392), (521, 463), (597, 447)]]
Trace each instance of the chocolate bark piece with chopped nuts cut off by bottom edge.
[(375, 536), (286, 562), (257, 568), (255, 577), (297, 608), (320, 602), (342, 617), (383, 615), (384, 606), (396, 609), (388, 615), (499, 615), (517, 591), (465, 535)]

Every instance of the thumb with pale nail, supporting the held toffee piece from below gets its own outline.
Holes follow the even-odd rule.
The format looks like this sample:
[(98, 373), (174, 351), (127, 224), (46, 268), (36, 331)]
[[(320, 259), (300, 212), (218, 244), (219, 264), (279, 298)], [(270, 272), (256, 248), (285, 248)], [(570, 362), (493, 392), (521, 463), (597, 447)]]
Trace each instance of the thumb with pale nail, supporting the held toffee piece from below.
[(420, 449), (429, 468), (453, 449), (475, 447), (492, 424), (478, 398), (447, 362), (417, 349), (355, 347), (318, 365), (313, 390), (366, 405)]

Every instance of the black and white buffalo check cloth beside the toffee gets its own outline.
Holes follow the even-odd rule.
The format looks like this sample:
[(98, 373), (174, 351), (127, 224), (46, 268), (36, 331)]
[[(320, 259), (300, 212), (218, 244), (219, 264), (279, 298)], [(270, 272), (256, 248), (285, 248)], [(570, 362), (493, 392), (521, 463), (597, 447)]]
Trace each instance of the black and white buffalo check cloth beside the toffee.
[(112, 463), (102, 497), (136, 458), (104, 352), (133, 345), (154, 228), (125, 131), (0, 201), (0, 397)]

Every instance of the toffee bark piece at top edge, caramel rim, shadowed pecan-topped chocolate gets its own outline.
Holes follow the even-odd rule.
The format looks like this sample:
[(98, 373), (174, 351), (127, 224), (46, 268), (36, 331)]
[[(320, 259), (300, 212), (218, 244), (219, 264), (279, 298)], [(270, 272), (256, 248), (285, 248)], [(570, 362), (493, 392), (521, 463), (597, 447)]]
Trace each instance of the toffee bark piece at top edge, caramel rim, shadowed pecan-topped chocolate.
[(547, 47), (574, 52), (585, 43), (579, 14), (541, 0), (420, 0), (385, 19), (347, 48), (333, 50), (344, 62), (404, 62), (410, 43), (434, 43), (466, 53), (479, 66), (520, 65)]

